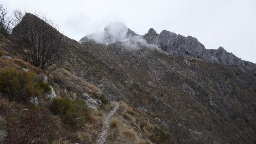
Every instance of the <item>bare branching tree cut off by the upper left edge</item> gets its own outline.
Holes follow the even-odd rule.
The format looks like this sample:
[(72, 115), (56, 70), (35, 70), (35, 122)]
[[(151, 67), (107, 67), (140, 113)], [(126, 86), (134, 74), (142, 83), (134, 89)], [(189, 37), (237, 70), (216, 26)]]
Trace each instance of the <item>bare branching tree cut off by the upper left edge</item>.
[(12, 31), (13, 17), (9, 15), (6, 4), (0, 4), (0, 33), (8, 36)]

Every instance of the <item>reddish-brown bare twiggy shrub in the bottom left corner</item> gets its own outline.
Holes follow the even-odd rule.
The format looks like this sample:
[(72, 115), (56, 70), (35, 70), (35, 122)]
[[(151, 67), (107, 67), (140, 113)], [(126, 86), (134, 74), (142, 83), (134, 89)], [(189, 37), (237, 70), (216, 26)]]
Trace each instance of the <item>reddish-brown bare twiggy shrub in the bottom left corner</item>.
[(48, 123), (48, 112), (41, 107), (28, 110), (27, 112), (12, 113), (2, 103), (0, 98), (0, 121), (1, 129), (6, 132), (2, 142), (21, 143), (49, 143), (48, 133), (52, 132), (53, 125)]

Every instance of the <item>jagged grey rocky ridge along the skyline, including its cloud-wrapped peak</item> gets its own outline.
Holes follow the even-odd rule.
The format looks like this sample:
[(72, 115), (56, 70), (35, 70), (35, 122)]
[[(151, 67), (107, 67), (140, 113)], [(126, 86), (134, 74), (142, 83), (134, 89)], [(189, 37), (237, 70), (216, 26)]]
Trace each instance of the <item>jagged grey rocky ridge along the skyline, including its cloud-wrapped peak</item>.
[[(124, 28), (116, 29), (115, 28), (116, 24), (122, 25)], [(122, 35), (120, 36), (119, 34), (120, 36), (119, 39), (115, 38), (114, 40), (106, 41), (106, 40), (100, 40), (99, 38), (97, 38), (97, 34), (88, 34), (87, 36), (84, 36), (79, 41), (79, 43), (82, 43), (85, 41), (92, 42), (94, 40), (99, 43), (110, 44), (116, 41), (122, 41), (124, 39), (132, 39), (135, 36), (140, 36), (140, 38), (145, 40), (147, 44), (153, 44), (158, 48), (162, 49), (163, 51), (167, 52), (171, 56), (190, 55), (192, 57), (197, 57), (210, 63), (221, 63), (228, 66), (234, 66), (234, 65), (244, 66), (244, 62), (245, 62), (244, 60), (241, 60), (241, 58), (238, 58), (234, 54), (227, 52), (223, 47), (219, 47), (218, 49), (206, 49), (203, 44), (201, 44), (196, 38), (192, 36), (185, 37), (180, 34), (177, 35), (176, 33), (172, 33), (167, 30), (163, 30), (160, 34), (158, 34), (153, 28), (150, 28), (148, 33), (146, 33), (145, 35), (138, 35), (132, 30), (130, 30), (129, 28), (127, 28), (127, 26), (125, 26), (124, 24), (112, 23), (110, 25), (112, 25), (112, 29), (115, 29), (115, 32), (122, 33), (123, 36)], [(125, 28), (127, 30), (124, 30)], [(106, 28), (104, 28), (103, 32), (106, 33)], [(105, 33), (104, 35), (101, 34), (102, 35), (101, 39), (109, 39), (109, 38), (106, 38)], [(115, 35), (115, 34), (112, 33), (111, 35)], [(256, 64), (251, 63), (251, 66), (252, 66), (252, 69), (254, 70), (256, 69)]]

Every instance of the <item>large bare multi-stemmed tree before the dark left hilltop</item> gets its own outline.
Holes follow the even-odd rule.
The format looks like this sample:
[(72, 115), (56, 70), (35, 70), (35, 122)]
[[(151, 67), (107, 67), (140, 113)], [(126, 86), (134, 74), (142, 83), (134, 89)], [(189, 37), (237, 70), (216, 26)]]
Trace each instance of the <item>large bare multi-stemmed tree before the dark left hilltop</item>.
[(20, 56), (44, 72), (60, 66), (66, 47), (58, 26), (45, 16), (21, 10), (16, 10), (14, 16), (16, 26), (12, 35), (17, 38), (16, 50)]

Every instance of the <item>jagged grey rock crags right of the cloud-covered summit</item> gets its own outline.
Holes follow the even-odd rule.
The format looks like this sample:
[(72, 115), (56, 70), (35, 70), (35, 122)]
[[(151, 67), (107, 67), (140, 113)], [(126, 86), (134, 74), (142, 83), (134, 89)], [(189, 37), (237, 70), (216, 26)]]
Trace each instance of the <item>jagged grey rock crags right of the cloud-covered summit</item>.
[(223, 47), (217, 50), (207, 50), (203, 44), (192, 36), (185, 37), (166, 30), (160, 33), (157, 46), (172, 56), (190, 55), (210, 63), (221, 63), (228, 66), (244, 65), (240, 58), (227, 52)]

